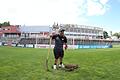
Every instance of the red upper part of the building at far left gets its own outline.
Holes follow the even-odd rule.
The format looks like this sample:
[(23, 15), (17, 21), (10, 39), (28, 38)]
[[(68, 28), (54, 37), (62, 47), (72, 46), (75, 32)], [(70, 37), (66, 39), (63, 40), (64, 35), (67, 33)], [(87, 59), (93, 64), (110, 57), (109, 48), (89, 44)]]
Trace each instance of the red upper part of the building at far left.
[(6, 27), (2, 27), (2, 32), (3, 33), (20, 33), (20, 30), (18, 26), (6, 26)]

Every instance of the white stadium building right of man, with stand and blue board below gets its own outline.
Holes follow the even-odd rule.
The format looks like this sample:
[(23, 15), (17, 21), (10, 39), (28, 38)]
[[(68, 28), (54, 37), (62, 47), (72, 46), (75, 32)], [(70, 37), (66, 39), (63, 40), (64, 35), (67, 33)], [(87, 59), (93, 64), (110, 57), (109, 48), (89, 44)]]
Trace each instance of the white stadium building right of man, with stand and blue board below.
[(72, 48), (108, 48), (111, 47), (111, 40), (103, 39), (103, 28), (77, 25), (77, 24), (54, 24), (52, 30), (58, 32), (65, 29), (68, 44)]

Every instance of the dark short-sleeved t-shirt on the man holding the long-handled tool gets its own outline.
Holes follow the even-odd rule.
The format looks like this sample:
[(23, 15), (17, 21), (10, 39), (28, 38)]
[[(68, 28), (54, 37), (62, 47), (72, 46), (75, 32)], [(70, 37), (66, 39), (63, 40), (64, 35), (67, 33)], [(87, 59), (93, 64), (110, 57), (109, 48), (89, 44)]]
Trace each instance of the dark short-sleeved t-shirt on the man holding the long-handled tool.
[(53, 35), (52, 39), (55, 39), (55, 49), (63, 49), (63, 44), (67, 43), (66, 36), (60, 36), (59, 34)]

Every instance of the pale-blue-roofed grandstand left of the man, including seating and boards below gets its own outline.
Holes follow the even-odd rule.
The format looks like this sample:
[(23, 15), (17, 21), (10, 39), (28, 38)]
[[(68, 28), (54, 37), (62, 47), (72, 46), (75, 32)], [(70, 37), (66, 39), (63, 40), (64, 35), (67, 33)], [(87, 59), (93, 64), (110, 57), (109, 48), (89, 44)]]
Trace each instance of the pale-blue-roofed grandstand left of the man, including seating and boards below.
[[(21, 39), (18, 46), (39, 47), (48, 45), (50, 26), (21, 26)], [(42, 46), (43, 47), (43, 46)]]

